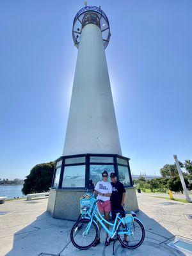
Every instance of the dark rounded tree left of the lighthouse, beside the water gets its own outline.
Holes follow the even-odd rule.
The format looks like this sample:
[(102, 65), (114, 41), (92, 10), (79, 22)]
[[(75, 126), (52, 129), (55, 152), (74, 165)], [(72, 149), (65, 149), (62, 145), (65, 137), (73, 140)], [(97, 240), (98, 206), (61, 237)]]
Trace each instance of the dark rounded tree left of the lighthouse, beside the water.
[(36, 164), (24, 180), (22, 193), (27, 195), (48, 191), (51, 187), (53, 173), (54, 162)]

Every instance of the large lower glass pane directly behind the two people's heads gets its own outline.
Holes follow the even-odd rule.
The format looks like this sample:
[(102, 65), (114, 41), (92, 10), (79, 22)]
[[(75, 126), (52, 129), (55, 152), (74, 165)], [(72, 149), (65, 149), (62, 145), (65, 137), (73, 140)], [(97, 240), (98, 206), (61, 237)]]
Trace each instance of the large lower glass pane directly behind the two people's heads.
[(114, 166), (102, 165), (102, 164), (91, 164), (90, 165), (90, 188), (94, 188), (99, 180), (102, 180), (102, 172), (108, 172), (108, 181), (111, 182), (110, 173), (115, 172)]

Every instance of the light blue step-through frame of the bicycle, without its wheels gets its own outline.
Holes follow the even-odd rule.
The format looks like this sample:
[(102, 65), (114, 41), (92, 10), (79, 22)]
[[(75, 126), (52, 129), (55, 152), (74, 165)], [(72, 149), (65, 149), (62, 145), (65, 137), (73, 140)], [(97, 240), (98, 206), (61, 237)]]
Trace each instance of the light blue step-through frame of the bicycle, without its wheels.
[[(88, 227), (86, 227), (86, 230), (84, 231), (83, 236), (86, 236), (88, 234), (88, 232), (90, 230), (90, 227), (92, 225), (92, 221), (97, 225), (97, 228), (99, 230), (99, 226), (96, 222), (96, 221), (98, 221), (100, 223), (100, 225), (104, 228), (104, 230), (108, 233), (109, 238), (113, 238), (116, 234), (116, 231), (118, 230), (118, 226), (120, 225), (120, 223), (123, 223), (125, 225), (125, 221), (122, 218), (120, 218), (120, 216), (119, 216), (120, 214), (117, 213), (116, 218), (115, 218), (115, 222), (111, 223), (111, 222), (105, 220), (102, 217), (102, 215), (100, 214), (99, 209), (97, 207), (97, 203), (93, 207), (94, 208), (93, 208), (92, 214), (88, 213), (88, 214), (86, 214), (86, 215), (88, 215), (88, 217), (86, 217), (86, 216), (84, 217), (84, 218), (90, 219), (91, 221), (90, 221)], [(96, 221), (93, 220), (94, 217), (95, 217)], [(119, 220), (119, 222), (118, 222), (118, 220)], [(113, 227), (112, 231), (110, 231), (104, 223), (107, 223), (108, 225), (112, 226)], [(118, 224), (116, 225), (116, 223), (118, 223)], [(128, 236), (132, 235), (132, 232), (130, 230), (131, 229), (131, 223), (128, 223), (128, 224), (129, 224), (129, 229), (126, 228), (127, 230), (125, 232), (119, 232), (119, 234), (126, 234)]]

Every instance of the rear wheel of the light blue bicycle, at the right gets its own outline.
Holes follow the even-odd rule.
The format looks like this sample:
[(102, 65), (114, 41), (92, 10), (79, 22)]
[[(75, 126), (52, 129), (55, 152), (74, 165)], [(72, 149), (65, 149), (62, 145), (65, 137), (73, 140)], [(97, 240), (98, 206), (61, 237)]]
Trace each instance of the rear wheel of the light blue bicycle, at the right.
[(134, 221), (125, 225), (120, 223), (117, 234), (118, 240), (123, 246), (129, 249), (135, 249), (143, 243), (145, 229), (138, 219), (134, 219)]

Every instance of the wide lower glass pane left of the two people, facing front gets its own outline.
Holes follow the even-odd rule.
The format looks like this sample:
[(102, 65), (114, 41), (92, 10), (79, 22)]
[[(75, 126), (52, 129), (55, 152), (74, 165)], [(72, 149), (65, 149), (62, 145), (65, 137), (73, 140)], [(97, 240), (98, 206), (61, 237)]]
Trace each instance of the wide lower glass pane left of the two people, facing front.
[(85, 165), (65, 166), (62, 188), (84, 188)]

